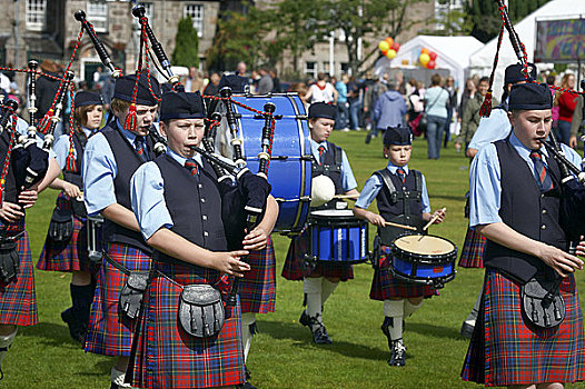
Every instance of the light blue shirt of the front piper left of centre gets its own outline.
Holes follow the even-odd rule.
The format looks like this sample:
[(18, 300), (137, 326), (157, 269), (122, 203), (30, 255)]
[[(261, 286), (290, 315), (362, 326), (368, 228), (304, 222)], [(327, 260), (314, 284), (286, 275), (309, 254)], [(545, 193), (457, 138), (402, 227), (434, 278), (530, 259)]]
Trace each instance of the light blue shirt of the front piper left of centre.
[[(187, 161), (187, 158), (170, 148), (167, 154), (181, 166)], [(192, 159), (202, 167), (200, 154), (195, 154)], [(136, 170), (130, 180), (130, 201), (145, 240), (161, 228), (172, 228), (172, 219), (165, 202), (165, 180), (157, 163), (146, 162)]]

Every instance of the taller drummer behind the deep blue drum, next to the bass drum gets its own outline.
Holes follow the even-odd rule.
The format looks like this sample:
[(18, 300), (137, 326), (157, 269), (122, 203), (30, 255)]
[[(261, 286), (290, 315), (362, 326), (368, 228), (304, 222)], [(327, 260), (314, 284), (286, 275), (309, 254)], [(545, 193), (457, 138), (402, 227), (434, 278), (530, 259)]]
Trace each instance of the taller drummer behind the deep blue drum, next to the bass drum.
[[(356, 194), (357, 182), (345, 151), (329, 142), (327, 138), (335, 124), (337, 108), (325, 102), (316, 102), (309, 107), (310, 148), (314, 157), (313, 178), (325, 174), (335, 183), (336, 194)], [(339, 203), (345, 205), (344, 201)], [(335, 208), (337, 202), (330, 201), (319, 209)], [(311, 208), (315, 209), (315, 208)], [(290, 242), (282, 277), (287, 280), (304, 280), (305, 302), (299, 322), (309, 327), (313, 340), (317, 345), (331, 343), (331, 339), (323, 322), (323, 307), (339, 285), (339, 280), (354, 278), (354, 270), (348, 265), (315, 263), (305, 266), (305, 252), (310, 237), (305, 231)]]

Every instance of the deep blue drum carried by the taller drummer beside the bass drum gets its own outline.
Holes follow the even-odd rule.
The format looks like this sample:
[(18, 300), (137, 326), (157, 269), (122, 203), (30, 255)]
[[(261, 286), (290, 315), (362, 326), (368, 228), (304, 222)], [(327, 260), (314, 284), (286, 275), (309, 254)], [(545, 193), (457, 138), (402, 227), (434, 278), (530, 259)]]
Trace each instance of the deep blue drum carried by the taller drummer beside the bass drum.
[(368, 223), (348, 209), (310, 212), (309, 237), (315, 260), (351, 265), (368, 259)]

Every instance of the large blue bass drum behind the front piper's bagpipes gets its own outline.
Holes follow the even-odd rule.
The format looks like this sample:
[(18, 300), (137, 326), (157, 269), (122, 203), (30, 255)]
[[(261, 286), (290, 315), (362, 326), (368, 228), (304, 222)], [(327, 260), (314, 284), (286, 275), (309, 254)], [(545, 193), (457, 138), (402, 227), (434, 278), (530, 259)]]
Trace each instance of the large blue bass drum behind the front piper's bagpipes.
[[(310, 143), (307, 113), (297, 93), (270, 96), (238, 96), (232, 99), (258, 111), (271, 102), (275, 110), (275, 136), (272, 154), (268, 167), (271, 194), (279, 205), (275, 231), (298, 232), (309, 213), (310, 196)], [(238, 119), (238, 137), (248, 169), (258, 172), (258, 153), (261, 151), (264, 117), (234, 103)]]

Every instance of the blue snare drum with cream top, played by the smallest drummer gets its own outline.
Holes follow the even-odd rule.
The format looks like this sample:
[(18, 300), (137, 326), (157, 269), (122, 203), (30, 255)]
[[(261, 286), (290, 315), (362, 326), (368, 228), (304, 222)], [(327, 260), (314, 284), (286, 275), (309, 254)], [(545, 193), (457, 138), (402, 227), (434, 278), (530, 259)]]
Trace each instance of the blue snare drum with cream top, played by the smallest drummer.
[(390, 245), (390, 270), (408, 282), (443, 288), (455, 278), (457, 247), (435, 236), (409, 235)]

